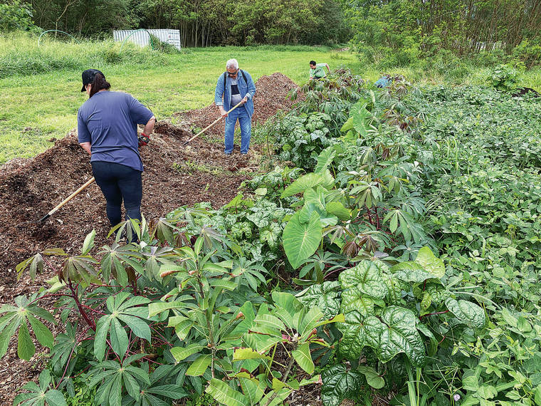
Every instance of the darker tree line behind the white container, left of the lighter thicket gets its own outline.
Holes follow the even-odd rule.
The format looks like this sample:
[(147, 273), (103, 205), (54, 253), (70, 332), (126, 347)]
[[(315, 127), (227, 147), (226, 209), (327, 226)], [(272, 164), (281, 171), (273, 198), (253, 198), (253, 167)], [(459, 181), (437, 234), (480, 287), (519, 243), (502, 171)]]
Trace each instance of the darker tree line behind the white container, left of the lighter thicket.
[(0, 0), (43, 29), (80, 36), (173, 28), (183, 46), (337, 43), (350, 36), (339, 0)]

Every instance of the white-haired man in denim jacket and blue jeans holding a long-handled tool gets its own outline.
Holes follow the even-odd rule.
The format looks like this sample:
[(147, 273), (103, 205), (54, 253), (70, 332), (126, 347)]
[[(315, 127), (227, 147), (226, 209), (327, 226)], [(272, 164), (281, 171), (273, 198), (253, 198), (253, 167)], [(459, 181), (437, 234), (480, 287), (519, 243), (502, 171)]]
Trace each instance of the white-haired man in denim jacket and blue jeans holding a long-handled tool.
[[(230, 59), (226, 63), (226, 71), (218, 78), (214, 91), (214, 103), (218, 106), (222, 117), (226, 118), (225, 152), (231, 155), (233, 152), (233, 135), (235, 125), (241, 125), (241, 154), (248, 153), (250, 136), (252, 132), (253, 96), (256, 94), (256, 85), (253, 83), (250, 73), (238, 68), (236, 59)], [(231, 113), (231, 108), (238, 106)]]

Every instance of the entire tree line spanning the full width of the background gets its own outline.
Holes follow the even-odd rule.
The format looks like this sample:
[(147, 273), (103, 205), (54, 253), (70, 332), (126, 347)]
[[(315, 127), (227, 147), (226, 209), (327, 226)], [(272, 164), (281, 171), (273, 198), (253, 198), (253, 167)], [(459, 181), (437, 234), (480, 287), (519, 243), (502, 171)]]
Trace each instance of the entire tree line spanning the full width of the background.
[(183, 46), (351, 38), (359, 52), (391, 64), (441, 51), (497, 51), (541, 63), (541, 0), (0, 0), (0, 11), (2, 31), (28, 21), (85, 37), (177, 28)]

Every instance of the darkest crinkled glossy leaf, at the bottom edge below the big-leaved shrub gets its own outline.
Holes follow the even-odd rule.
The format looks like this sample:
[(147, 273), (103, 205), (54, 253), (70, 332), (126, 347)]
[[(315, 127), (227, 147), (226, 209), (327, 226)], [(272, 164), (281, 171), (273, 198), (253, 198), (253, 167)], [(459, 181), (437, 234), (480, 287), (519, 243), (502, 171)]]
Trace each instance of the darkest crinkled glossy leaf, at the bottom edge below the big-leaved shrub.
[(345, 365), (333, 365), (321, 374), (321, 400), (325, 406), (338, 406), (342, 400), (356, 397), (363, 383), (362, 373), (348, 371)]

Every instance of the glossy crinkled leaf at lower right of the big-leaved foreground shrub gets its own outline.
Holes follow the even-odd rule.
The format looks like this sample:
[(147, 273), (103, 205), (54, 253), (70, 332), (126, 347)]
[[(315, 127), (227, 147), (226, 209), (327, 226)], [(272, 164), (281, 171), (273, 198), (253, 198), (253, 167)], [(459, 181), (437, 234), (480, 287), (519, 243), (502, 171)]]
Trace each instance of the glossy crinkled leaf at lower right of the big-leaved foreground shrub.
[(386, 326), (381, 330), (379, 347), (374, 348), (379, 360), (387, 363), (399, 353), (405, 353), (411, 365), (422, 366), (425, 359), (424, 345), (417, 332), (415, 314), (406, 308), (389, 306), (381, 317)]

